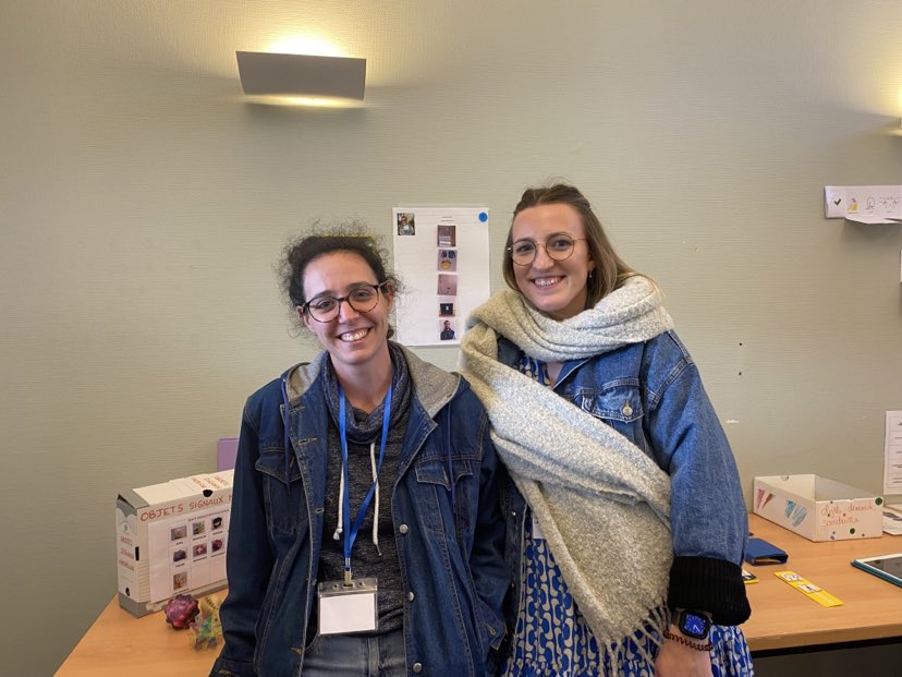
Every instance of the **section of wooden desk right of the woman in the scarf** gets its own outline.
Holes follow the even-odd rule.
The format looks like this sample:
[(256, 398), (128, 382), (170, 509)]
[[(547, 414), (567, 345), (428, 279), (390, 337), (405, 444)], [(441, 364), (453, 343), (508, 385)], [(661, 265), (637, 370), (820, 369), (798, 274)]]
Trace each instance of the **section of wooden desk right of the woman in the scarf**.
[[(752, 618), (742, 627), (753, 652), (887, 638), (902, 642), (902, 588), (850, 565), (856, 557), (902, 553), (902, 536), (813, 543), (757, 515), (748, 522), (756, 536), (789, 553), (785, 565), (745, 566), (758, 577), (746, 587)], [(843, 605), (820, 606), (773, 576), (787, 569)]]

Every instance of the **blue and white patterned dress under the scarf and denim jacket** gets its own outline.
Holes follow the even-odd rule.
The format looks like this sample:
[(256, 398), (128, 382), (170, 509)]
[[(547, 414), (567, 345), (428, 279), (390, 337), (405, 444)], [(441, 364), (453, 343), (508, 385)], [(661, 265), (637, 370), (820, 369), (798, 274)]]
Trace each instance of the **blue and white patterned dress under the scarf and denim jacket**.
[[(543, 385), (545, 364), (523, 358), (521, 372)], [(653, 629), (627, 640), (611, 657), (601, 652), (566, 588), (540, 529), (526, 511), (523, 539), (522, 599), (511, 653), (501, 666), (503, 677), (577, 677), (623, 675), (653, 677), (654, 661), (665, 640)], [(714, 677), (753, 677), (745, 637), (735, 626), (711, 627)]]

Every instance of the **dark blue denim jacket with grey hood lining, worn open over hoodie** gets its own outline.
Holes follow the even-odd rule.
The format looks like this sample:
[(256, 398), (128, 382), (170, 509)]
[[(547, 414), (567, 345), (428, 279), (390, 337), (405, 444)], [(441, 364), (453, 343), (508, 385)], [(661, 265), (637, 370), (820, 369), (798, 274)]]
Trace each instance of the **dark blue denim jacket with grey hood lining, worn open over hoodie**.
[[(414, 396), (391, 512), (406, 591), (407, 674), (485, 675), (504, 637), (503, 470), (468, 384), (404, 355)], [(326, 359), (294, 367), (288, 379), (288, 476), (281, 379), (245, 404), (220, 609), (226, 645), (211, 675), (297, 676), (314, 639), (306, 633), (322, 542)]]

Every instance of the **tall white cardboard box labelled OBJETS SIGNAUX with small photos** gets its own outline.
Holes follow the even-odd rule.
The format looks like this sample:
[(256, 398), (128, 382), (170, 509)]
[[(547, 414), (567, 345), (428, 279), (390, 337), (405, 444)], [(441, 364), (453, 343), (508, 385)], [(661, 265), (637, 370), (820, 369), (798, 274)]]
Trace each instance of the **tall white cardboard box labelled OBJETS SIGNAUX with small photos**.
[(115, 501), (119, 604), (136, 616), (226, 587), (232, 470), (129, 489)]

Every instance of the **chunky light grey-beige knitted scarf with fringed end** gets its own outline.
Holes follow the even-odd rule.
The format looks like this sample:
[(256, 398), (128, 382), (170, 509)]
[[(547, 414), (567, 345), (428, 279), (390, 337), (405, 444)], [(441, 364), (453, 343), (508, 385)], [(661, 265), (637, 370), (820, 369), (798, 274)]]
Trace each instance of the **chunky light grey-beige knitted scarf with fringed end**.
[(648, 340), (672, 321), (654, 283), (637, 276), (562, 322), (503, 291), (474, 311), (467, 328), (461, 371), (599, 650), (617, 665), (627, 639), (659, 642), (668, 621), (670, 477), (612, 427), (498, 362), (497, 336), (532, 358), (562, 362)]

